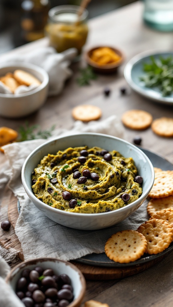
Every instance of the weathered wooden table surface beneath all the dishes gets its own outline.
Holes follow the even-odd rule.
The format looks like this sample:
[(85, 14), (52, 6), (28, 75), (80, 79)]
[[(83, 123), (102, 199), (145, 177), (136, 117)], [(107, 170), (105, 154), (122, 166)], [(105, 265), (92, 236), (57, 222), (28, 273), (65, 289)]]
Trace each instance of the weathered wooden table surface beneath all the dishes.
[[(157, 51), (171, 50), (173, 46), (172, 33), (155, 32), (144, 26), (142, 10), (142, 3), (135, 2), (90, 20), (90, 34), (85, 50), (103, 43), (115, 45), (125, 53), (125, 64), (132, 56), (143, 51), (151, 49)], [(22, 54), (31, 49), (47, 45), (48, 41), (45, 38), (12, 50), (10, 53)], [(3, 55), (1, 57), (3, 58)], [(152, 103), (130, 89), (128, 95), (120, 94), (120, 87), (128, 88), (123, 77), (125, 64), (119, 69), (118, 74), (100, 75), (97, 80), (91, 82), (91, 86), (79, 87), (76, 83), (79, 73), (78, 68), (84, 64), (81, 61), (72, 65), (74, 75), (66, 82), (62, 94), (49, 98), (41, 110), (25, 119), (0, 118), (0, 126), (9, 126), (18, 130), (19, 126), (27, 120), (30, 124), (39, 124), (42, 129), (49, 128), (52, 123), (56, 124), (56, 128), (70, 129), (74, 123), (71, 117), (72, 108), (78, 104), (86, 103), (100, 107), (103, 111), (103, 119), (112, 114), (121, 117), (124, 111), (134, 108), (149, 111), (154, 119), (162, 116), (172, 117), (173, 109), (170, 106)], [(105, 87), (111, 89), (110, 97), (104, 97), (103, 90)], [(124, 128), (124, 132), (125, 139), (129, 142), (132, 142), (135, 135), (140, 135), (144, 148), (161, 154), (173, 163), (172, 139), (155, 135), (151, 128), (140, 133)], [(3, 165), (4, 161), (4, 155), (0, 154), (0, 165)], [(110, 307), (172, 306), (172, 268), (173, 260), (169, 255), (147, 271), (123, 280), (87, 281), (85, 300), (96, 299), (106, 302)]]

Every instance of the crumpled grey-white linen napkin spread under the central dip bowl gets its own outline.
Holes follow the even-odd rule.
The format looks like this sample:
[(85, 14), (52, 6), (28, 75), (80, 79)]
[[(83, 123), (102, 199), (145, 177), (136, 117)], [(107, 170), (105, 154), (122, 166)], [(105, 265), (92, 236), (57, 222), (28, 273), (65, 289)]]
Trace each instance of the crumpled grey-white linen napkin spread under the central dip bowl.
[[(75, 122), (70, 132), (57, 130), (56, 134), (66, 135), (77, 131), (93, 131), (123, 137), (122, 126), (116, 116), (100, 122), (90, 122), (87, 125)], [(126, 221), (114, 227), (82, 231), (59, 225), (44, 216), (29, 200), (21, 183), (21, 169), (25, 158), (43, 142), (45, 140), (33, 140), (4, 146), (10, 165), (9, 170), (6, 171), (10, 178), (9, 187), (18, 197), (21, 205), (15, 232), (21, 242), (25, 259), (51, 256), (70, 260), (93, 252), (102, 253), (105, 242), (113, 233), (123, 229), (136, 229), (144, 220), (147, 220), (146, 214), (143, 213), (146, 210), (141, 207)]]

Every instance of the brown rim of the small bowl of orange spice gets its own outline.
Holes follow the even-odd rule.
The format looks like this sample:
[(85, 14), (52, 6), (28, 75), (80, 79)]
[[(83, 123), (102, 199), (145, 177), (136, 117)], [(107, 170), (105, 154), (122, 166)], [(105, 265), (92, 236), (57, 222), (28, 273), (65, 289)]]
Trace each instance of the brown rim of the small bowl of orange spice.
[[(91, 57), (89, 56), (89, 53), (95, 49), (98, 49), (98, 48), (104, 48), (104, 47), (107, 47), (107, 48), (110, 48), (112, 50), (114, 50), (115, 52), (117, 52), (120, 56), (121, 56), (121, 59), (116, 61), (115, 63), (110, 63), (110, 64), (104, 64), (104, 65), (98, 65), (95, 61), (93, 61), (91, 59)], [(125, 56), (124, 56), (124, 53), (119, 49), (119, 48), (116, 48), (114, 46), (110, 46), (110, 45), (98, 45), (98, 46), (95, 46), (95, 47), (91, 47), (90, 49), (88, 49), (85, 53), (84, 53), (84, 57), (85, 57), (85, 60), (86, 62), (90, 65), (90, 66), (93, 66), (95, 68), (100, 68), (100, 69), (113, 69), (113, 68), (116, 68), (116, 67), (119, 67), (121, 64), (123, 64), (124, 60), (125, 60)]]

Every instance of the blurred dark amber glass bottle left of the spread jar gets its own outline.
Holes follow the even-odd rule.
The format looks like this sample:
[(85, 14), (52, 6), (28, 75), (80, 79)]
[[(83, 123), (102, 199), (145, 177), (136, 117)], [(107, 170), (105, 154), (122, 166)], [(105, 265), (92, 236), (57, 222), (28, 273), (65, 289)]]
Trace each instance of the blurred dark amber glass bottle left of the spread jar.
[(22, 38), (26, 42), (44, 37), (44, 27), (50, 9), (49, 0), (24, 0), (21, 4)]

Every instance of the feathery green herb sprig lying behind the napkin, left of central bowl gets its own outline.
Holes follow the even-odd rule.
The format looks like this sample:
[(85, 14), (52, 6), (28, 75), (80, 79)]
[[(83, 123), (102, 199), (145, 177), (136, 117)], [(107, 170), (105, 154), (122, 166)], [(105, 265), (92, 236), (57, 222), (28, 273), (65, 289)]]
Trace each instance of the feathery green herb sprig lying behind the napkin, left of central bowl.
[(52, 135), (52, 131), (55, 129), (55, 125), (51, 126), (50, 129), (41, 130), (39, 125), (29, 126), (28, 122), (25, 122), (24, 126), (20, 126), (19, 132), (19, 142), (35, 140), (38, 138), (49, 138)]

